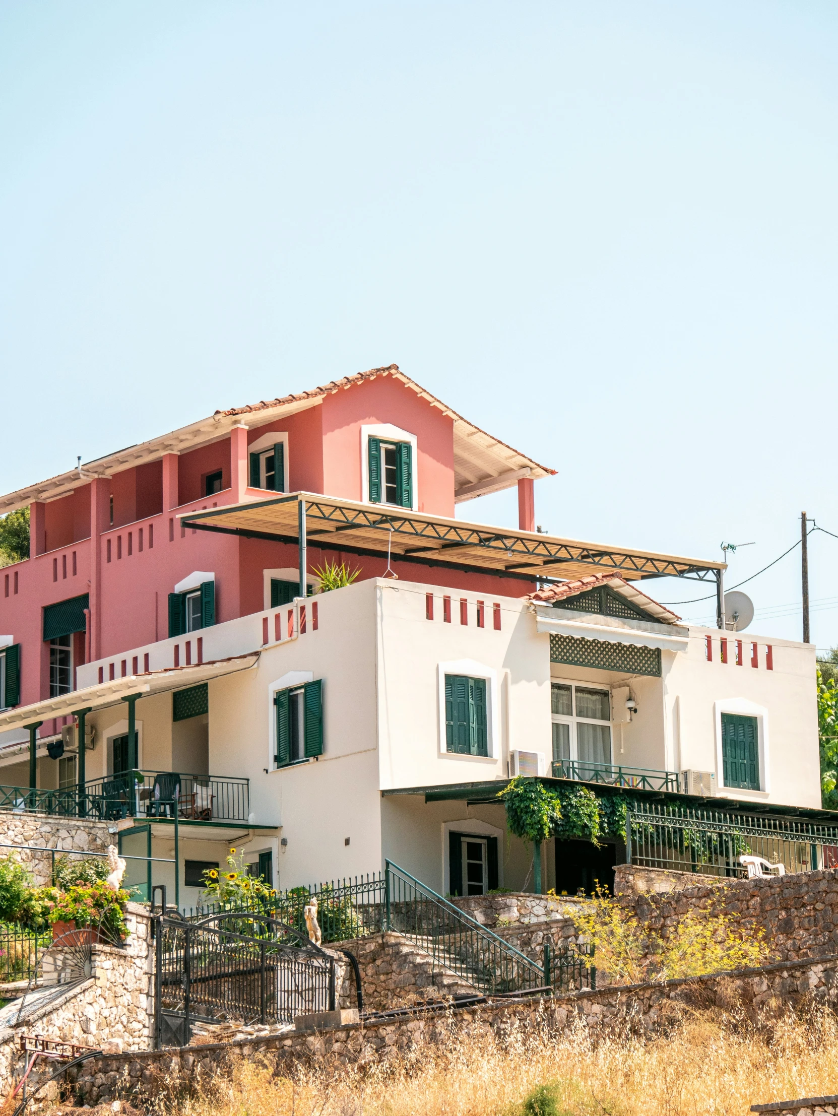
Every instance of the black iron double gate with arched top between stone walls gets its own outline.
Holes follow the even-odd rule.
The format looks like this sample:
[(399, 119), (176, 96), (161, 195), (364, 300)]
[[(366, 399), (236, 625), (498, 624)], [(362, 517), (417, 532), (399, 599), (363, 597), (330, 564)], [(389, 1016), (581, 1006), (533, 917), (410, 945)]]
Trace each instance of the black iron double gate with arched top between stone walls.
[(267, 915), (158, 915), (155, 950), (157, 1049), (186, 1046), (200, 1021), (292, 1023), (335, 1010), (335, 959)]

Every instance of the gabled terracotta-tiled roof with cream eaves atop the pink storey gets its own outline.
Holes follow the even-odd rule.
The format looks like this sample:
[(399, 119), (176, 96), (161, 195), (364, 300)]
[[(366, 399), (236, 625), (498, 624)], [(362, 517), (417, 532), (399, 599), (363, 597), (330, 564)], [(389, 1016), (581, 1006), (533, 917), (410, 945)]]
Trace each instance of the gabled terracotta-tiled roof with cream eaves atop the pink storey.
[(540, 465), (537, 461), (507, 445), (505, 442), (492, 437), (491, 434), (487, 434), (479, 426), (468, 422), (462, 415), (452, 411), (436, 396), (411, 379), (410, 376), (405, 376), (398, 365), (391, 364), (384, 368), (370, 368), (368, 372), (359, 372), (353, 376), (345, 376), (343, 379), (334, 379), (321, 387), (315, 387), (307, 392), (285, 395), (244, 407), (216, 411), (210, 417), (191, 423), (189, 426), (181, 426), (180, 430), (153, 437), (147, 442), (126, 446), (116, 453), (88, 461), (80, 469), (71, 469), (58, 477), (51, 477), (0, 497), (0, 514), (13, 511), (16, 508), (25, 508), (33, 500), (57, 500), (96, 477), (112, 477), (124, 469), (156, 461), (164, 453), (185, 453), (201, 445), (218, 442), (222, 437), (228, 437), (232, 427), (245, 421), (250, 415), (256, 421), (249, 425), (267, 425), (277, 419), (283, 419), (298, 411), (317, 406), (322, 403), (327, 395), (364, 384), (377, 376), (392, 376), (394, 379), (398, 379), (405, 387), (415, 392), (420, 398), (425, 400), (431, 406), (436, 407), (453, 420), (455, 501), (471, 500), (488, 492), (511, 488), (522, 477), (538, 479), (539, 477), (552, 475), (556, 472), (556, 470)]

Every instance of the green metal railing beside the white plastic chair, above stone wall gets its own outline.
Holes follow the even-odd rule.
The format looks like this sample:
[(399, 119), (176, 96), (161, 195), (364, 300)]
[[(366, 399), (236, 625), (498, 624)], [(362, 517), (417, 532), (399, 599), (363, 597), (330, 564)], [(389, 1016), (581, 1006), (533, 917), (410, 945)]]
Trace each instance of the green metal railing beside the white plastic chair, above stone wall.
[(838, 826), (784, 817), (644, 804), (626, 816), (626, 860), (710, 876), (745, 876), (742, 856), (786, 870), (838, 867)]

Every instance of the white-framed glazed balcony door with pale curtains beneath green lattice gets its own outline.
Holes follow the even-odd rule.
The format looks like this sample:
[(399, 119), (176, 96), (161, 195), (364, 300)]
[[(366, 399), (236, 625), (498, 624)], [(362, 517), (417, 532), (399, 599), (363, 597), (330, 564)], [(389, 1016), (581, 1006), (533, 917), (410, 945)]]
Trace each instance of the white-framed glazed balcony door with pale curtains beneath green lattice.
[(552, 761), (575, 764), (578, 778), (611, 763), (611, 695), (575, 682), (550, 683)]

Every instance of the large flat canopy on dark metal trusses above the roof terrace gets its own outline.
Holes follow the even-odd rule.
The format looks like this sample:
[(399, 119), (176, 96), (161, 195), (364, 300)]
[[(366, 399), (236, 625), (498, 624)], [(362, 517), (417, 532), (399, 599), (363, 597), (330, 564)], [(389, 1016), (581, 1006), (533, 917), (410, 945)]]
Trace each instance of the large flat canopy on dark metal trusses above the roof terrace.
[(300, 504), (305, 506), (308, 546), (376, 557), (389, 552), (399, 561), (423, 566), (491, 571), (530, 581), (578, 578), (603, 569), (618, 571), (627, 580), (686, 577), (703, 581), (715, 580), (716, 571), (725, 569), (719, 561), (487, 527), (311, 492), (193, 511), (179, 518), (184, 526), (204, 531), (297, 543)]

